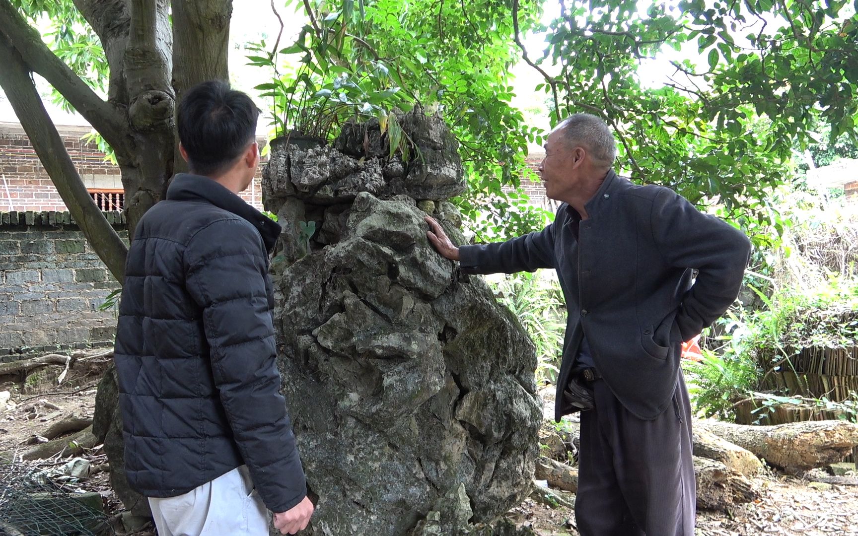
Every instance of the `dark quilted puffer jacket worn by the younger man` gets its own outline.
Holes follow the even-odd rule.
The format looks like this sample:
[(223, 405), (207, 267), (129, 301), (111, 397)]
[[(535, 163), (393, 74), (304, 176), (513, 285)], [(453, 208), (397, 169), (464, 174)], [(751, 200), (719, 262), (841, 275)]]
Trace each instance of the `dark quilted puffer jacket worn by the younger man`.
[(131, 487), (174, 497), (247, 464), (274, 512), (306, 495), (275, 365), (268, 251), (280, 226), (178, 174), (128, 253), (115, 362)]

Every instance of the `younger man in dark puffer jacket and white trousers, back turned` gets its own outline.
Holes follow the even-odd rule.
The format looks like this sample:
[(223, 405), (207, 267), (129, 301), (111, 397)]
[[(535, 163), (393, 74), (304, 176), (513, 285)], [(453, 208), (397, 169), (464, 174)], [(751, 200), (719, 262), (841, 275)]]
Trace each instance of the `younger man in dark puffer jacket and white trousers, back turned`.
[(178, 105), (190, 173), (137, 224), (116, 362), (132, 488), (160, 536), (306, 527), (313, 505), (280, 394), (269, 251), (280, 226), (239, 196), (259, 163), (259, 111), (208, 81)]

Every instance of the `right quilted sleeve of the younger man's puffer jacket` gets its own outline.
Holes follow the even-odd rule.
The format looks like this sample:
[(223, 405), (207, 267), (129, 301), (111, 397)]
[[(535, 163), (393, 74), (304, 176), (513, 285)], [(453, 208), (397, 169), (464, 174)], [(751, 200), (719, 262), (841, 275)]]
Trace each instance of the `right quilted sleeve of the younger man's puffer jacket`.
[(215, 385), (263, 503), (283, 512), (306, 495), (281, 379), (262, 238), (244, 220), (219, 220), (185, 250), (186, 284), (202, 307)]

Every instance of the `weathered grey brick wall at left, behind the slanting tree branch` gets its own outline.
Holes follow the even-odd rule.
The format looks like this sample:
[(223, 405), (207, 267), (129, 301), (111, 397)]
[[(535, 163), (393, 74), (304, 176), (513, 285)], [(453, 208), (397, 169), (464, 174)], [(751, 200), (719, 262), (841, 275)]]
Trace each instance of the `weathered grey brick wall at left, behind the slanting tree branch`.
[(115, 313), (98, 307), (118, 287), (69, 213), (0, 213), (0, 362), (112, 346)]

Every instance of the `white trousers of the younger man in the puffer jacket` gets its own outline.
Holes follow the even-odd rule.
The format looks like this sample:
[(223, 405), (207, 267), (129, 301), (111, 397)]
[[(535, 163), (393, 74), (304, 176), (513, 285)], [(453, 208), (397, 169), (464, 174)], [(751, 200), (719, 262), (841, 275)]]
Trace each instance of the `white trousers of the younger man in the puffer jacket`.
[(177, 497), (149, 497), (159, 536), (267, 536), (268, 511), (246, 466)]

